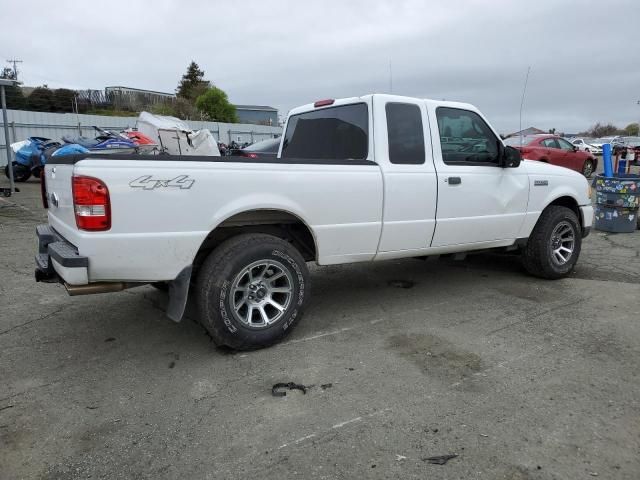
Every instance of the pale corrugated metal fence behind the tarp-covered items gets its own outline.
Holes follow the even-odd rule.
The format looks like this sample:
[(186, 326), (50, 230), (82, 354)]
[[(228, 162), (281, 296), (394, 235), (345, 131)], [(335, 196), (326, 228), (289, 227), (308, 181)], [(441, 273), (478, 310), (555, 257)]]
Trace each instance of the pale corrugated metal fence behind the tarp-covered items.
[[(93, 137), (93, 126), (105, 130), (120, 131), (135, 127), (138, 117), (107, 117), (102, 115), (76, 115), (74, 113), (31, 112), (26, 110), (7, 110), (9, 122), (9, 143), (24, 140), (27, 137), (46, 137), (59, 140), (64, 135), (84, 135)], [(280, 127), (252, 125), (245, 123), (219, 123), (187, 121), (194, 130), (208, 128), (221, 142), (253, 143), (273, 138), (282, 132)], [(0, 165), (6, 165), (4, 125), (0, 117)]]

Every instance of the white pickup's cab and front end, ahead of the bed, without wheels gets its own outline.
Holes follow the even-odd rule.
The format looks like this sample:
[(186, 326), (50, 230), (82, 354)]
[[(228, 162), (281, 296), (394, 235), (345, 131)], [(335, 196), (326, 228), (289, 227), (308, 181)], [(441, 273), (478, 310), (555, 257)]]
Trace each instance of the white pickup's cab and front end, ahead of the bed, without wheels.
[(560, 183), (590, 222), (584, 179), (513, 161), (510, 150), (473, 105), (368, 95), (292, 110), (279, 154), (372, 162), (382, 170), (374, 258), (381, 260), (512, 245), (528, 237), (542, 207), (561, 198), (554, 191)]

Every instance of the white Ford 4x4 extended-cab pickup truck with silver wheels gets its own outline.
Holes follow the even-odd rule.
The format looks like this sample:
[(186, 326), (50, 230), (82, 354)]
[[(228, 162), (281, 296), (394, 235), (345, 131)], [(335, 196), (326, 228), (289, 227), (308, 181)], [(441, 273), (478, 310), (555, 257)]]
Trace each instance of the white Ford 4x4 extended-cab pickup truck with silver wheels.
[(593, 220), (582, 175), (521, 162), (472, 105), (378, 94), (292, 110), (277, 158), (52, 157), (43, 200), (37, 280), (167, 286), (171, 318), (194, 297), (235, 349), (300, 320), (306, 262), (510, 249), (554, 279)]

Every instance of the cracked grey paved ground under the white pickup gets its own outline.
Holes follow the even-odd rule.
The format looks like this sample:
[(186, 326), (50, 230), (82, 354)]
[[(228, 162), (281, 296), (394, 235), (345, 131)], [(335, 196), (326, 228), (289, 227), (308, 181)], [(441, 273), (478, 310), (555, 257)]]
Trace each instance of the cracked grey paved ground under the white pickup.
[(555, 282), (486, 254), (314, 268), (293, 334), (234, 354), (151, 287), (36, 284), (37, 183), (8, 200), (2, 479), (638, 478), (640, 232)]

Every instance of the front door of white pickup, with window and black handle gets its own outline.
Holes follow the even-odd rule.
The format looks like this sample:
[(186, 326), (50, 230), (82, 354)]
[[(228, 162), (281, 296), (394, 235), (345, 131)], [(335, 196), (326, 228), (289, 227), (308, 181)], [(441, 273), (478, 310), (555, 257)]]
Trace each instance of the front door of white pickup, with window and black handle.
[(501, 140), (477, 112), (437, 107), (429, 114), (440, 137), (434, 139), (438, 212), (431, 246), (517, 238), (529, 197), (524, 167), (499, 165)]

